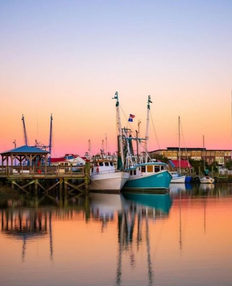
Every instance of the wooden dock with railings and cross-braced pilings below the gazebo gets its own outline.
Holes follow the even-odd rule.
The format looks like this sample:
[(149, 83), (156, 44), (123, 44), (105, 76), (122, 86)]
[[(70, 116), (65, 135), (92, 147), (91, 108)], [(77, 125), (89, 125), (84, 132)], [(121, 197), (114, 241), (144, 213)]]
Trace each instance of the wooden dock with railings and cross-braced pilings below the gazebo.
[(12, 186), (29, 193), (34, 185), (35, 192), (42, 189), (59, 189), (88, 192), (90, 184), (90, 163), (85, 166), (1, 166), (0, 180), (7, 179)]

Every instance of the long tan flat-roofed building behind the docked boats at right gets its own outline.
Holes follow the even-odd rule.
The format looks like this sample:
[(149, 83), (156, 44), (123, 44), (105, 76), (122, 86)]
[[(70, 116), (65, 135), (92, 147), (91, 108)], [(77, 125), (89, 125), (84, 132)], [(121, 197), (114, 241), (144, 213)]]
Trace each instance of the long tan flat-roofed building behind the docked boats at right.
[[(232, 150), (206, 149), (206, 148), (180, 148), (181, 159), (205, 160), (209, 165), (217, 162), (218, 165), (225, 165), (232, 160)], [(162, 155), (170, 160), (178, 160), (179, 147), (167, 147), (149, 152), (149, 156)]]

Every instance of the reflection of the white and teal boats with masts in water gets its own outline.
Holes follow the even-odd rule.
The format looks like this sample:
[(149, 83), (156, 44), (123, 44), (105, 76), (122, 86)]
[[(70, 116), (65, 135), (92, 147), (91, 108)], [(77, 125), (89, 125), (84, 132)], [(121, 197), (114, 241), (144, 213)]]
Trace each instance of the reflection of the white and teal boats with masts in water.
[[(116, 285), (122, 284), (122, 256), (129, 254), (130, 266), (136, 263), (136, 252), (139, 252), (142, 241), (146, 244), (148, 285), (153, 285), (153, 269), (150, 254), (149, 220), (165, 219), (171, 207), (168, 193), (150, 194), (124, 192), (120, 194), (91, 193), (90, 204), (93, 216), (102, 220), (102, 227), (107, 221), (118, 222), (118, 254)], [(144, 231), (145, 228), (145, 231)], [(136, 246), (135, 246), (136, 245)], [(141, 250), (142, 251), (142, 250)]]

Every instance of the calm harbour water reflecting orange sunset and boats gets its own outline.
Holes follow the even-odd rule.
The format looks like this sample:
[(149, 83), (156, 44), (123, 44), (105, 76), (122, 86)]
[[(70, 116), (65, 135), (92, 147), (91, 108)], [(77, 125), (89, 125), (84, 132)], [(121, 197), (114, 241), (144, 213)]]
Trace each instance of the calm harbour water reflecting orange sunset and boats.
[(232, 285), (232, 186), (1, 200), (0, 286)]

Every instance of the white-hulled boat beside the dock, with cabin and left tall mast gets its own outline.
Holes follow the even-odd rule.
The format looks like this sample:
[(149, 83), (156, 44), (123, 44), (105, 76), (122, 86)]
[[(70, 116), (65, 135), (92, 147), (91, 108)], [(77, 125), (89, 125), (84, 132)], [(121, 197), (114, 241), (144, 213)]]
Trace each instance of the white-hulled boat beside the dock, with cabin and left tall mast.
[[(92, 162), (92, 168), (90, 173), (90, 190), (91, 191), (120, 191), (126, 181), (129, 179), (129, 173), (124, 171), (121, 164), (120, 156), (123, 156), (122, 152), (122, 140), (121, 136), (121, 123), (118, 95), (116, 93), (116, 114), (117, 114), (117, 126), (118, 126), (118, 156), (117, 167), (114, 166), (114, 161), (110, 158), (102, 156), (95, 159)], [(123, 160), (123, 159), (122, 159)]]

